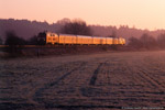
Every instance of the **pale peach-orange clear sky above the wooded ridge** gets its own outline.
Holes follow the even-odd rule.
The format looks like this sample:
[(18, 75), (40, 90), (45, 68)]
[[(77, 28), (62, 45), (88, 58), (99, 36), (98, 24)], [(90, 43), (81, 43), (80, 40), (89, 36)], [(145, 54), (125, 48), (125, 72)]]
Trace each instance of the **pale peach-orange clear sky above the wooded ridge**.
[(0, 0), (0, 19), (10, 18), (158, 30), (165, 29), (165, 0)]

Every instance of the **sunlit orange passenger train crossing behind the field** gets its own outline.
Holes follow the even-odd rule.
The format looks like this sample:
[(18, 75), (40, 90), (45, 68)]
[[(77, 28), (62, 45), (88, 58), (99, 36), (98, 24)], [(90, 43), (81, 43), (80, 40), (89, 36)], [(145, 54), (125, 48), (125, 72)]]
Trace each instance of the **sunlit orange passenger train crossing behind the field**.
[(103, 36), (86, 36), (73, 34), (57, 34), (45, 32), (40, 36), (40, 40), (45, 44), (63, 44), (63, 45), (124, 45), (125, 38), (123, 37), (103, 37)]

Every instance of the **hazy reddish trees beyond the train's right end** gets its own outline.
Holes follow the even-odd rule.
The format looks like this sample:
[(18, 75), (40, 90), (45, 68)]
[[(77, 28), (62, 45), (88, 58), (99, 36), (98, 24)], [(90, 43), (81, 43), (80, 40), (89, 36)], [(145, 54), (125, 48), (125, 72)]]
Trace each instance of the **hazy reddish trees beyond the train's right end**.
[(143, 34), (140, 38), (131, 37), (129, 45), (134, 48), (165, 48), (165, 34), (158, 35), (157, 38), (148, 34)]

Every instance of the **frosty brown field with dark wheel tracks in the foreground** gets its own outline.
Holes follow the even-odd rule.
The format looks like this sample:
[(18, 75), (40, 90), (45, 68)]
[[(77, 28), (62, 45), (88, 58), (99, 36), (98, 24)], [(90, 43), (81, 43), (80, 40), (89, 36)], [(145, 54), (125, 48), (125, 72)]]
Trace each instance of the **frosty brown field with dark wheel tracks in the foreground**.
[(0, 61), (2, 109), (165, 106), (165, 52)]

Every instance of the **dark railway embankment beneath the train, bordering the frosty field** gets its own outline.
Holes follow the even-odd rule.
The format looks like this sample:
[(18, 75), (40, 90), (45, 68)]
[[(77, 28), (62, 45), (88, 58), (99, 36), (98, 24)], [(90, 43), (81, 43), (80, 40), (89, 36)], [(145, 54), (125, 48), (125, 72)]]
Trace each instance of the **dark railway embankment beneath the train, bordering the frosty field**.
[(1, 57), (41, 57), (41, 56), (62, 56), (77, 54), (92, 54), (110, 51), (124, 51), (121, 45), (26, 45), (14, 47), (1, 47)]

